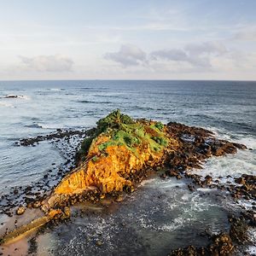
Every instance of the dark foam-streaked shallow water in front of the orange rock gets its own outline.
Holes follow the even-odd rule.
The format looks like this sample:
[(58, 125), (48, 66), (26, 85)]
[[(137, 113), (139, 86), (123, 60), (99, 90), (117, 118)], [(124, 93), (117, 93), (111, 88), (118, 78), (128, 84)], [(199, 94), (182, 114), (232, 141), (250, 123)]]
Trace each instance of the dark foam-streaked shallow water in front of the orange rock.
[[(227, 211), (217, 191), (188, 192), (176, 178), (151, 179), (125, 201), (108, 209), (84, 210), (82, 217), (58, 226), (40, 253), (55, 255), (166, 255), (172, 249), (207, 243), (206, 230), (228, 230)], [(217, 193), (218, 194), (218, 193)], [(61, 234), (61, 235), (60, 235)], [(198, 239), (200, 237), (200, 239)], [(102, 245), (97, 246), (97, 241)]]

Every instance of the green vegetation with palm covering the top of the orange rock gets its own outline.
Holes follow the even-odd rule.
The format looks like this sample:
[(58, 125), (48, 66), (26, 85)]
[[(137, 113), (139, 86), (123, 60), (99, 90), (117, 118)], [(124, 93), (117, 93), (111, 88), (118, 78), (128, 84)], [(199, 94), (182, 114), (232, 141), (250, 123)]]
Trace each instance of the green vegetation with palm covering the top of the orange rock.
[(134, 121), (117, 109), (97, 122), (96, 129), (81, 144), (79, 156), (87, 154), (90, 144), (102, 133), (108, 135), (110, 139), (98, 146), (101, 152), (104, 152), (109, 146), (125, 146), (137, 154), (137, 147), (143, 144), (149, 144), (151, 150), (159, 152), (168, 144), (163, 130), (164, 125), (160, 122), (150, 125), (146, 120)]

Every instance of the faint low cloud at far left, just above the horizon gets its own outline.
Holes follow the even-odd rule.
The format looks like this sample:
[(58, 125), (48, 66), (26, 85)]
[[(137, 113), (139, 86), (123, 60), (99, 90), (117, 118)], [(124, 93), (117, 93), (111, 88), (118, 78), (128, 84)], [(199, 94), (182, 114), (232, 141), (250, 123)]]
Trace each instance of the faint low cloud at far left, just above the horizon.
[(23, 66), (39, 72), (72, 71), (73, 60), (62, 55), (39, 55), (32, 58), (19, 56)]

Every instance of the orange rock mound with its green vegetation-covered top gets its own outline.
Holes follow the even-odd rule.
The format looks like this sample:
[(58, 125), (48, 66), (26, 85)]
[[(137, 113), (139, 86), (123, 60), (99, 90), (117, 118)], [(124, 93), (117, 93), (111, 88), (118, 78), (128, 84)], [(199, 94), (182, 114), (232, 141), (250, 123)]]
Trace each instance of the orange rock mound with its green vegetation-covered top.
[(174, 152), (177, 148), (177, 141), (168, 137), (164, 125), (133, 121), (119, 111), (101, 119), (85, 145), (87, 141), (90, 145), (80, 152), (80, 160), (85, 155), (86, 159), (55, 188), (54, 198), (91, 188), (103, 195), (131, 188), (131, 174), (157, 165), (167, 150)]

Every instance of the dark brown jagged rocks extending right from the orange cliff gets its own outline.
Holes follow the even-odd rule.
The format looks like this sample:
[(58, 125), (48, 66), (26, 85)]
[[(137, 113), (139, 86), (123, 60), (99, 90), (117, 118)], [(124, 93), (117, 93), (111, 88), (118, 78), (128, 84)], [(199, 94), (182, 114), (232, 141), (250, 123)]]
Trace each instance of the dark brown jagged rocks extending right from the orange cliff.
[[(183, 173), (195, 168), (201, 169), (203, 160), (211, 156), (224, 156), (235, 154), (237, 148), (245, 149), (245, 145), (219, 140), (213, 136), (212, 131), (202, 128), (190, 127), (177, 123), (166, 125), (167, 134), (177, 141), (177, 149), (167, 156), (167, 176), (173, 176), (173, 172)], [(210, 183), (210, 178), (207, 178)]]

